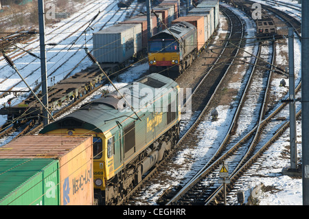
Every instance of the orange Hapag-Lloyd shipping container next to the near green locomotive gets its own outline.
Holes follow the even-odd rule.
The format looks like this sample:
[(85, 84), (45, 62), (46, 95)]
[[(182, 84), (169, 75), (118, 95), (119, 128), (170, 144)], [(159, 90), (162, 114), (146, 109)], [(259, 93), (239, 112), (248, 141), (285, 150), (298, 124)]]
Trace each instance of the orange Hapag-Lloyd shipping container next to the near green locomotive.
[(0, 148), (1, 159), (54, 159), (59, 163), (60, 205), (93, 205), (91, 136), (19, 137)]

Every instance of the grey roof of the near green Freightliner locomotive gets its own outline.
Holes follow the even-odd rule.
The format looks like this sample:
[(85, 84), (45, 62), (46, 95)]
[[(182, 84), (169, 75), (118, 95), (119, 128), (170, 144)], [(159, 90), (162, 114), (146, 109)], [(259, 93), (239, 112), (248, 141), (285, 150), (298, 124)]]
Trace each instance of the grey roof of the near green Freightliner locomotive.
[[(176, 87), (177, 84), (172, 79), (161, 76), (158, 73), (152, 73), (150, 76), (141, 78), (141, 80), (128, 84), (126, 87), (119, 89), (126, 100), (133, 100), (133, 107), (138, 106), (139, 101), (144, 98), (146, 102), (152, 102), (153, 98), (148, 98), (147, 95), (139, 97), (139, 89), (134, 86), (139, 86), (139, 89), (170, 89)], [(129, 101), (130, 102), (130, 101)], [(145, 102), (143, 102), (145, 106)], [(130, 107), (123, 107), (125, 104), (121, 95), (117, 91), (109, 93), (104, 97), (100, 97), (93, 102), (84, 104), (78, 111), (75, 111), (56, 122), (48, 124), (41, 130), (41, 134), (57, 130), (60, 128), (84, 128), (95, 132), (105, 132), (122, 123), (122, 126), (130, 124), (137, 120), (137, 116), (130, 110)], [(135, 111), (139, 116), (144, 114), (141, 111)]]

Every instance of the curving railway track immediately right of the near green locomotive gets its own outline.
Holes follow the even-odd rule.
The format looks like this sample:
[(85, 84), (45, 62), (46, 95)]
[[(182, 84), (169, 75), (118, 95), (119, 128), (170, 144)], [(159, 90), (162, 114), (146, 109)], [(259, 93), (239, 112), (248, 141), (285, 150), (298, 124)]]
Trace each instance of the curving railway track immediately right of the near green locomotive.
[[(242, 22), (240, 19), (238, 19), (237, 16), (235, 16), (233, 13), (231, 13), (229, 10), (222, 8), (222, 10), (225, 11), (225, 14), (228, 14), (231, 18), (230, 22), (233, 22), (233, 29), (230, 30), (229, 37), (227, 38), (227, 41), (225, 42), (225, 48), (222, 49), (221, 56), (216, 59), (215, 63), (218, 65), (212, 65), (210, 69), (207, 69), (208, 71), (205, 71), (205, 77), (198, 83), (196, 86), (196, 89), (192, 93), (192, 103), (194, 102), (195, 106), (192, 106), (192, 117), (188, 118), (187, 124), (182, 124), (184, 127), (182, 128), (181, 134), (183, 137), (179, 140), (176, 146), (176, 150), (174, 150), (167, 159), (165, 159), (164, 162), (161, 162), (159, 166), (157, 166), (154, 170), (152, 170), (145, 178), (144, 181), (142, 181), (139, 185), (139, 187), (136, 187), (133, 189), (133, 191), (126, 197), (122, 202), (119, 203), (119, 205), (122, 205), (126, 203), (126, 205), (136, 205), (136, 203), (148, 203), (147, 200), (141, 200), (141, 197), (144, 190), (142, 187), (145, 187), (146, 190), (152, 191), (151, 186), (152, 185), (161, 185), (161, 192), (163, 189), (166, 189), (165, 183), (163, 183), (167, 178), (170, 178), (170, 175), (172, 174), (171, 171), (179, 171), (183, 170), (181, 166), (178, 166), (177, 164), (177, 156), (176, 154), (186, 150), (187, 147), (192, 146), (193, 142), (196, 142), (196, 136), (194, 136), (194, 130), (196, 128), (195, 126), (190, 126), (190, 124), (196, 124), (198, 121), (203, 118), (203, 115), (209, 111), (209, 102), (211, 102), (211, 99), (214, 97), (214, 95), (211, 96), (211, 94), (216, 93), (216, 91), (212, 90), (213, 87), (216, 87), (215, 90), (218, 89), (220, 86), (220, 83), (222, 83), (223, 79), (227, 75), (227, 72), (229, 71), (229, 67), (231, 66), (231, 63), (233, 62), (233, 57), (237, 56), (239, 49), (237, 47), (229, 47), (228, 41), (233, 41), (233, 43), (236, 43), (234, 39), (241, 39), (244, 27), (242, 26)], [(237, 21), (236, 21), (237, 20)], [(242, 30), (242, 31), (239, 31)], [(240, 45), (242, 41), (238, 41), (237, 45)], [(229, 58), (227, 58), (227, 54), (229, 54)], [(221, 65), (222, 63), (225, 63), (225, 65)], [(220, 64), (220, 65), (219, 65)], [(210, 81), (210, 78), (213, 80)], [(205, 84), (207, 82), (207, 84)], [(208, 84), (212, 84), (212, 86), (209, 87)], [(211, 93), (210, 95), (205, 95), (205, 93)], [(203, 95), (202, 95), (203, 94)], [(190, 99), (190, 98), (189, 98)], [(187, 100), (188, 101), (188, 100)], [(206, 105), (206, 107), (205, 107)], [(204, 106), (204, 107), (203, 107)], [(183, 120), (184, 122), (185, 120)], [(189, 129), (186, 129), (185, 126), (189, 126)], [(184, 133), (185, 132), (185, 133)], [(190, 142), (190, 143), (188, 143)], [(172, 170), (170, 168), (173, 167)], [(185, 167), (187, 168), (187, 167)], [(141, 189), (141, 191), (138, 191), (138, 189)], [(159, 189), (159, 190), (160, 190)], [(157, 190), (157, 189), (156, 189)], [(152, 191), (153, 192), (153, 191)], [(155, 192), (157, 193), (157, 192)], [(132, 198), (134, 196), (134, 198)]]

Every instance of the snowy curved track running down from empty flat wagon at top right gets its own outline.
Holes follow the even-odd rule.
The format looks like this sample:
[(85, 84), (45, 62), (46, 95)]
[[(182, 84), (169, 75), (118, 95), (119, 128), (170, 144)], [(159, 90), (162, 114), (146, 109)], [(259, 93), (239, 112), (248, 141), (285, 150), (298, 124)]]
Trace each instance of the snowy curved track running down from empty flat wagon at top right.
[[(268, 56), (268, 50), (271, 50), (270, 58), (273, 60), (273, 46), (260, 45), (259, 57), (268, 60), (269, 58), (265, 57)], [(264, 68), (259, 69), (258, 66), (262, 64), (264, 64), (264, 61), (256, 60), (255, 68), (252, 69), (242, 100), (238, 104), (236, 116), (216, 154), (176, 196), (168, 201), (168, 205), (175, 203), (180, 205), (205, 204), (208, 196), (211, 196), (218, 189), (218, 168), (222, 161), (228, 163), (229, 170), (236, 169), (238, 163), (241, 163), (244, 154), (249, 151), (251, 142), (255, 140), (251, 137), (253, 134), (251, 130), (255, 127), (255, 124), (260, 122), (263, 115), (261, 112), (264, 111), (263, 108), (265, 107), (262, 103), (266, 103), (266, 88), (270, 81), (270, 75), (269, 72), (265, 73)], [(248, 132), (251, 135), (248, 135)], [(247, 139), (251, 140), (249, 145), (245, 143)], [(203, 188), (203, 192), (198, 192), (201, 188)]]

